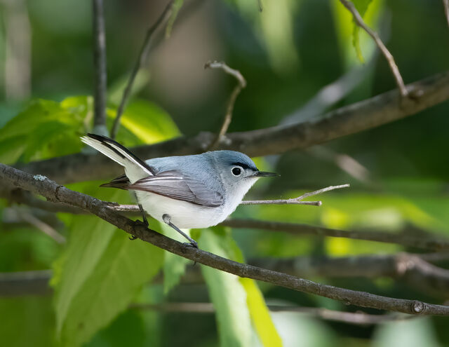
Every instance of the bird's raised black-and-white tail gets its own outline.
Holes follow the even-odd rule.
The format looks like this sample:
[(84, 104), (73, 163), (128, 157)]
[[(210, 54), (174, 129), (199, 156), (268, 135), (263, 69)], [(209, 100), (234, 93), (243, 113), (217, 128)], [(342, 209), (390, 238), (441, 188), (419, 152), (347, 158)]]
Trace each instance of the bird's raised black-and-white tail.
[(87, 134), (81, 137), (81, 141), (123, 166), (126, 176), (132, 181), (154, 175), (154, 171), (145, 161), (140, 160), (129, 149), (109, 137)]

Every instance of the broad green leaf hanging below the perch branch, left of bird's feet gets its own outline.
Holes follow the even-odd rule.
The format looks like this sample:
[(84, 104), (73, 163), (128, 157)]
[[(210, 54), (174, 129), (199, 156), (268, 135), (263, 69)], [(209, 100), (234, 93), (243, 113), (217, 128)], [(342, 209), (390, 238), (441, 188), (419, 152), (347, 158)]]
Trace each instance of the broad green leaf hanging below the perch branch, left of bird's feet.
[[(123, 193), (103, 191), (102, 198), (123, 201)], [(74, 216), (70, 229), (55, 288), (56, 334), (64, 346), (81, 346), (126, 310), (161, 268), (163, 254), (95, 216)]]

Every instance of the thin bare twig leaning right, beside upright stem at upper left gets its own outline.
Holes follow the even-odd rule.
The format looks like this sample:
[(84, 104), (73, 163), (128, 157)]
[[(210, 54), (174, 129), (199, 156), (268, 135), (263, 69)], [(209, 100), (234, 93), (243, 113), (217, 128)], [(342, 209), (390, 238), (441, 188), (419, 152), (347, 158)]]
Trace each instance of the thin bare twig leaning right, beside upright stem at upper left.
[(126, 104), (128, 103), (131, 90), (133, 89), (135, 76), (137, 76), (139, 70), (142, 68), (143, 64), (145, 64), (145, 62), (147, 61), (148, 53), (151, 48), (153, 34), (154, 32), (156, 32), (156, 29), (158, 29), (162, 25), (162, 23), (166, 22), (167, 18), (170, 17), (172, 9), (173, 9), (173, 0), (170, 0), (166, 8), (163, 10), (159, 18), (154, 23), (154, 25), (152, 25), (152, 27), (149, 27), (149, 29), (147, 30), (147, 34), (142, 44), (142, 48), (140, 48), (138, 60), (135, 62), (133, 71), (131, 72), (128, 79), (128, 83), (126, 84), (126, 88), (125, 90), (123, 90), (123, 96), (121, 97), (119, 108), (117, 109), (117, 114), (115, 116), (114, 124), (112, 125), (111, 129), (112, 139), (116, 137), (117, 132), (119, 131), (120, 118), (123, 115), (123, 111), (126, 107)]

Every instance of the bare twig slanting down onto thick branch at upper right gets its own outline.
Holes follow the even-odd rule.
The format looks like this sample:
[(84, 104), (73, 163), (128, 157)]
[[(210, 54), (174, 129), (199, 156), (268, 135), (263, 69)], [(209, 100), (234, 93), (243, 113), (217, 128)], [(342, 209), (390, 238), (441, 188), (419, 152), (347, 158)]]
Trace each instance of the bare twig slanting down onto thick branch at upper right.
[(393, 73), (394, 79), (396, 80), (396, 84), (398, 85), (398, 88), (401, 91), (401, 95), (403, 97), (406, 97), (408, 95), (408, 90), (404, 85), (404, 81), (402, 79), (401, 73), (399, 72), (398, 66), (396, 65), (396, 62), (394, 62), (393, 55), (391, 55), (387, 47), (385, 47), (379, 35), (377, 35), (377, 32), (373, 31), (373, 29), (371, 29), (370, 27), (368, 27), (368, 25), (366, 25), (360, 13), (358, 13), (356, 6), (354, 6), (354, 4), (352, 4), (352, 2), (348, 0), (340, 0), (340, 2), (343, 4), (344, 7), (346, 7), (349, 10), (349, 12), (351, 12), (352, 16), (354, 17), (354, 22), (356, 22), (356, 25), (365, 30), (366, 33), (370, 35), (371, 38), (373, 38), (377, 47), (379, 47), (385, 59), (387, 59), (391, 72)]

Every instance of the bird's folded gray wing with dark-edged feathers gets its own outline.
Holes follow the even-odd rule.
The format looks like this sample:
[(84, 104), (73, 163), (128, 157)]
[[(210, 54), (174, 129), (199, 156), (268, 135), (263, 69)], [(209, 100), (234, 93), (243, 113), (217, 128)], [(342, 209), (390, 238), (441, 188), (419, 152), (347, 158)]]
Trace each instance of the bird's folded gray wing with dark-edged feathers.
[(208, 207), (218, 207), (225, 202), (220, 192), (210, 190), (203, 182), (186, 177), (176, 170), (159, 172), (157, 175), (139, 179), (133, 184), (128, 184), (125, 189), (148, 191)]

